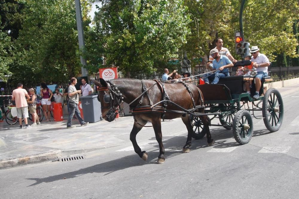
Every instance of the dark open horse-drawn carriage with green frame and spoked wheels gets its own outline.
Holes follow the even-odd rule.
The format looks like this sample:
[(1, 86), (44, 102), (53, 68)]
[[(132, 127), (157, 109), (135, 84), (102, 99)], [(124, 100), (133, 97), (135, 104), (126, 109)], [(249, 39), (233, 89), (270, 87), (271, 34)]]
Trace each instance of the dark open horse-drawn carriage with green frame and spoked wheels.
[[(238, 62), (235, 66), (247, 65), (245, 62)], [(271, 81), (270, 76), (262, 79), (260, 97), (251, 96), (255, 93), (255, 77), (250, 75), (230, 76), (220, 79), (218, 84), (199, 85), (204, 96), (205, 113), (214, 113), (210, 118), (210, 126), (220, 126), (225, 129), (232, 129), (235, 140), (240, 144), (247, 144), (253, 134), (252, 116), (255, 111), (262, 111), (266, 128), (270, 132), (280, 129), (283, 121), (283, 100), (277, 89), (264, 89), (264, 82)], [(244, 89), (246, 81), (252, 80), (251, 94)], [(193, 125), (195, 139), (205, 136), (205, 127), (201, 120), (190, 115)], [(214, 124), (213, 119), (218, 118), (219, 123)], [(257, 118), (261, 119), (261, 118)]]

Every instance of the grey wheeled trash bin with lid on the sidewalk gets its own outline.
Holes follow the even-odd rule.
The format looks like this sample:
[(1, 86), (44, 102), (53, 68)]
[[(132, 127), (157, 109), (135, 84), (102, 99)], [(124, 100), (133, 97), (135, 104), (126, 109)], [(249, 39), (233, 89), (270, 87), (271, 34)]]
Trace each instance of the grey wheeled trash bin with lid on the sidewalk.
[(82, 96), (81, 105), (85, 122), (97, 122), (101, 120), (101, 103), (97, 100), (97, 95)]

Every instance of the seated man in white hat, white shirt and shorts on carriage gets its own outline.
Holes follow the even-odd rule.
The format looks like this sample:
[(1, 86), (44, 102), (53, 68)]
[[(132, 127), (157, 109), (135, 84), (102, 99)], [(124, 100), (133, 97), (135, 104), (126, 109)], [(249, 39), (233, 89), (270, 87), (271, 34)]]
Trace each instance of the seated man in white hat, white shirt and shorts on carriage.
[[(257, 70), (257, 75), (255, 76), (255, 95), (253, 98), (259, 98), (260, 97), (260, 89), (262, 86), (261, 80), (268, 76), (268, 66), (270, 66), (269, 59), (266, 55), (260, 53), (260, 49), (257, 46), (251, 47), (251, 51), (249, 51), (252, 55), (251, 62), (256, 62), (256, 64), (253, 64), (252, 66), (255, 67)], [(247, 92), (250, 93), (249, 86), (246, 87)]]

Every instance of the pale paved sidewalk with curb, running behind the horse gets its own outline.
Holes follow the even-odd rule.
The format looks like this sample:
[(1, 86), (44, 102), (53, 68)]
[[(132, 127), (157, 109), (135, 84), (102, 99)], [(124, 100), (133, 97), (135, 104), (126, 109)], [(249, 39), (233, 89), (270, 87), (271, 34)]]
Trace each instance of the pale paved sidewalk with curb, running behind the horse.
[[(279, 88), (282, 96), (299, 90), (299, 85)], [(29, 121), (29, 124), (32, 122)], [(133, 127), (133, 117), (117, 118), (115, 121), (105, 120), (80, 127), (66, 128), (65, 120), (61, 122), (45, 122), (30, 129), (19, 129), (19, 125), (9, 126), (5, 121), (0, 123), (0, 169), (57, 160), (68, 155), (83, 154), (99, 149), (127, 144), (131, 146), (129, 134)], [(150, 123), (149, 123), (150, 125)], [(161, 123), (163, 135), (174, 135), (187, 132), (180, 118)], [(155, 137), (152, 127), (144, 127), (137, 134), (137, 141)]]

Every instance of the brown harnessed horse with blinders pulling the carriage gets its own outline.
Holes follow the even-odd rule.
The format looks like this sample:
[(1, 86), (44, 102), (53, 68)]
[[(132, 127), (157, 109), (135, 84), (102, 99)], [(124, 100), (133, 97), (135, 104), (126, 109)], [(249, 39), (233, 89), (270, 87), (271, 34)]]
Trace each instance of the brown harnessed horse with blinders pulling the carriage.
[[(161, 81), (141, 81), (128, 78), (120, 78), (111, 81), (105, 81), (100, 78), (100, 82), (93, 81), (94, 84), (100, 87), (98, 100), (101, 102), (102, 116), (106, 121), (111, 122), (115, 119), (118, 110), (117, 107), (122, 101), (130, 104), (134, 116), (134, 126), (130, 133), (130, 140), (135, 152), (144, 161), (147, 160), (147, 153), (141, 151), (136, 142), (136, 135), (149, 121), (152, 123), (155, 137), (160, 148), (157, 163), (164, 163), (165, 150), (162, 144), (161, 132), (162, 117), (164, 119), (182, 118), (188, 130), (187, 142), (183, 147), (183, 152), (190, 152), (193, 127), (188, 112), (183, 110), (193, 109), (195, 112), (204, 111), (204, 108), (201, 106), (203, 102), (202, 93), (198, 87), (191, 83), (184, 82), (162, 83)], [(167, 95), (167, 93), (169, 95)], [(192, 99), (194, 99), (194, 101)], [(173, 103), (179, 105), (181, 108)], [(211, 138), (209, 130), (209, 118), (207, 115), (201, 115), (199, 118), (207, 130), (208, 144), (212, 145), (213, 139)]]

